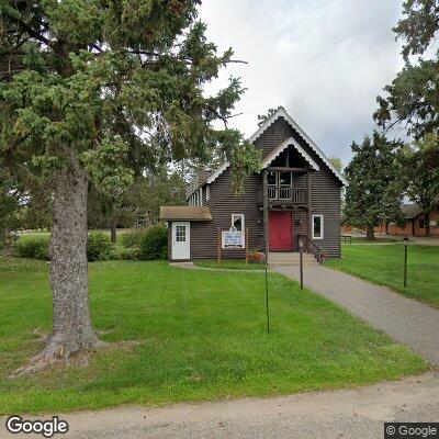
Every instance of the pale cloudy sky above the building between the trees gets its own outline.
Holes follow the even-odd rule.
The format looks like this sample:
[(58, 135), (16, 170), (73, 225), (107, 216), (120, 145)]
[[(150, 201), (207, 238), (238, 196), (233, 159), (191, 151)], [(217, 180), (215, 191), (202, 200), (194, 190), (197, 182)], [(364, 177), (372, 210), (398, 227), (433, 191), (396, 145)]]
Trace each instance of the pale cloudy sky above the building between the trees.
[(282, 105), (325, 151), (351, 157), (350, 144), (374, 128), (375, 98), (403, 61), (392, 27), (402, 0), (204, 0), (200, 18), (218, 50), (236, 59), (229, 76), (247, 88), (230, 121), (247, 137), (258, 114)]

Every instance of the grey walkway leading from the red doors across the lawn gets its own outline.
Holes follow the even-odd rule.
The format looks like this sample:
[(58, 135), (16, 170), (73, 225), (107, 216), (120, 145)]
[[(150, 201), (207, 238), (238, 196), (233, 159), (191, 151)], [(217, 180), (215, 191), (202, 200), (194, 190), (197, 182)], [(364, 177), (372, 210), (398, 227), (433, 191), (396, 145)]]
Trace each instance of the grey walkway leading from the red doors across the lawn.
[[(272, 269), (300, 279), (299, 267)], [(304, 267), (304, 284), (439, 367), (439, 309), (322, 266)]]

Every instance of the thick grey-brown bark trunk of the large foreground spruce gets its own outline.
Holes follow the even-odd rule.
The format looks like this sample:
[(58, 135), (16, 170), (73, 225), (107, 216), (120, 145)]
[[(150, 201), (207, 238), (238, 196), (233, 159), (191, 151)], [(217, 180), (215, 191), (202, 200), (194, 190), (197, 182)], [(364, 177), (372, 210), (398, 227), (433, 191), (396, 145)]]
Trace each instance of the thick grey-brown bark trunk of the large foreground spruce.
[(89, 312), (87, 190), (87, 176), (79, 167), (56, 177), (50, 240), (53, 333), (41, 358), (67, 359), (103, 345)]

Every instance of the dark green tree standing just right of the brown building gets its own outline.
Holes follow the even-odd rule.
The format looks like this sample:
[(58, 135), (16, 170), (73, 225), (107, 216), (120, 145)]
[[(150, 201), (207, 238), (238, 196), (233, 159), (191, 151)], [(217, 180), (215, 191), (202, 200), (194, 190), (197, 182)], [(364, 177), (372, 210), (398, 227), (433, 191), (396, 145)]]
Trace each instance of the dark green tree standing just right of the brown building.
[(361, 145), (351, 145), (353, 157), (345, 170), (349, 185), (344, 222), (367, 227), (369, 239), (374, 238), (375, 226), (401, 221), (402, 189), (396, 160), (399, 146), (378, 132), (372, 138), (364, 137)]

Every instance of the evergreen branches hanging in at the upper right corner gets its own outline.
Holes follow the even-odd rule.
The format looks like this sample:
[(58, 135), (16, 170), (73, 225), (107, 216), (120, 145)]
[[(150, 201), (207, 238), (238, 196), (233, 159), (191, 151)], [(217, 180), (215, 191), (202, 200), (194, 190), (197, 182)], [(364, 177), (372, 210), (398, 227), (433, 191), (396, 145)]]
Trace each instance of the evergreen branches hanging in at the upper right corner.
[[(402, 125), (415, 139), (439, 135), (439, 7), (431, 0), (406, 0), (394, 27), (403, 42), (404, 68), (378, 97), (375, 121), (383, 128)], [(424, 155), (424, 167), (439, 169), (439, 144)]]

